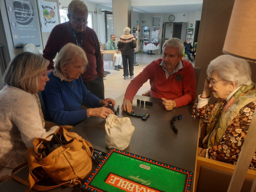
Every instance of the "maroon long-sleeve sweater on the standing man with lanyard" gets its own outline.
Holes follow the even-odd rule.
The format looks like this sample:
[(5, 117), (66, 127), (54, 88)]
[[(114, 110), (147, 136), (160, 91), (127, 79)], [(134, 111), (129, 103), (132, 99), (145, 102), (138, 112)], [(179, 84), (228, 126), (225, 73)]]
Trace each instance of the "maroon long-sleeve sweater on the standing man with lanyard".
[[(77, 42), (81, 44), (81, 32), (75, 33)], [(52, 29), (43, 51), (43, 57), (50, 61), (49, 69), (54, 69), (53, 59), (57, 52), (67, 43), (76, 44), (75, 37), (69, 25), (69, 21), (61, 23)], [(97, 76), (103, 78), (104, 66), (100, 52), (100, 44), (95, 31), (92, 28), (86, 27), (83, 31), (82, 48), (86, 53), (89, 61), (86, 71), (81, 74), (83, 81), (92, 81)]]

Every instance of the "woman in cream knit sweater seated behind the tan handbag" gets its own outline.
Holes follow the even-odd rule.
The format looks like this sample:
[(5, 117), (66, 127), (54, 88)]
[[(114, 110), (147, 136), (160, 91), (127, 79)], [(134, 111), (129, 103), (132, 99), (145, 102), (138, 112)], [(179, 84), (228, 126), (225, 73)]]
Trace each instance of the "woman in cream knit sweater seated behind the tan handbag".
[(39, 55), (22, 52), (4, 73), (0, 91), (0, 182), (11, 175), (13, 168), (27, 161), (25, 153), (33, 140), (55, 132), (44, 129), (44, 116), (37, 92), (43, 91), (49, 78), (49, 61)]

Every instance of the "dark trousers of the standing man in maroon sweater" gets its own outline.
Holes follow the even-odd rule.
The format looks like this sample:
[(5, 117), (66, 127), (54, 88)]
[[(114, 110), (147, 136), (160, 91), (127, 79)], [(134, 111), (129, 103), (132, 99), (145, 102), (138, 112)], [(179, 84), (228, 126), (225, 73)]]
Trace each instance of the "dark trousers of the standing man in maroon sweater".
[(94, 95), (99, 97), (101, 100), (105, 99), (104, 96), (104, 83), (103, 78), (98, 76), (92, 81), (84, 81), (85, 87)]

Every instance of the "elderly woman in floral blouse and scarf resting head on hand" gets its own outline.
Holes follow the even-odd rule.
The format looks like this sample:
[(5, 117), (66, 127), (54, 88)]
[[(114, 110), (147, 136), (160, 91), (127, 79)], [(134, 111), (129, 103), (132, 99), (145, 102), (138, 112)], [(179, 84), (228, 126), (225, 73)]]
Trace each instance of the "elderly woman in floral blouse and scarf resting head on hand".
[[(212, 60), (204, 90), (193, 107), (194, 117), (208, 120), (198, 155), (236, 164), (256, 105), (256, 84), (249, 63), (230, 55)], [(208, 104), (210, 95), (218, 99)], [(250, 169), (256, 168), (254, 153)]]

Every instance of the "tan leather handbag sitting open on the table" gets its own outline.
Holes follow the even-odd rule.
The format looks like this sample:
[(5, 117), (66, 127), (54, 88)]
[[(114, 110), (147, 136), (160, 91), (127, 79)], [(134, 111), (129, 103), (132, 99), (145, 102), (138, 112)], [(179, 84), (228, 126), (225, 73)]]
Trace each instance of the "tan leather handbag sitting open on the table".
[[(52, 135), (51, 140), (46, 140)], [(92, 171), (92, 145), (76, 133), (67, 132), (62, 127), (46, 138), (36, 138), (33, 141), (34, 148), (27, 150), (29, 185), (27, 185), (28, 181), (21, 181), (22, 179), (14, 174), (12, 178), (35, 190), (49, 190), (60, 185), (67, 187), (81, 185)], [(51, 187), (35, 185), (46, 177), (50, 177), (57, 185)]]

